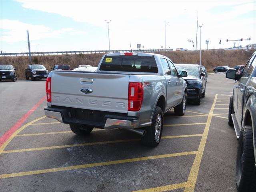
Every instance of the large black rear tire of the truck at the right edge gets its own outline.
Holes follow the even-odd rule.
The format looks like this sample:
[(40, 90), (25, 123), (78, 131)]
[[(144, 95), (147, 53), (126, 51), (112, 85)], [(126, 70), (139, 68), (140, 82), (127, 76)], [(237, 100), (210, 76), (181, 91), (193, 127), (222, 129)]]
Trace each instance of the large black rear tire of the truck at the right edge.
[(240, 132), (236, 155), (236, 188), (238, 192), (255, 192), (256, 189), (252, 126), (244, 126)]

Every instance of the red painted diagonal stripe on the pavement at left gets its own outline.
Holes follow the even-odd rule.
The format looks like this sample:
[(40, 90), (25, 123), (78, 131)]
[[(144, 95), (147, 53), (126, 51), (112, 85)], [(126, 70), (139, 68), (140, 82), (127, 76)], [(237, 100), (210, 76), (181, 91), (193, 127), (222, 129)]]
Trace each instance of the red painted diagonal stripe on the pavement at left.
[(12, 134), (18, 128), (20, 128), (20, 126), (24, 123), (24, 121), (26, 121), (26, 119), (40, 106), (40, 104), (42, 104), (42, 102), (44, 102), (45, 99), (46, 99), (46, 96), (44, 96), (42, 99), (40, 99), (40, 101), (37, 104), (35, 104), (24, 116), (22, 116), (22, 118), (20, 118), (20, 120), (18, 120), (18, 122), (16, 122), (16, 124), (14, 126), (12, 126), (12, 128), (10, 128), (0, 138), (0, 147), (2, 146), (2, 144), (4, 144), (4, 142), (6, 142), (6, 140), (8, 140), (8, 138), (10, 138), (10, 136), (12, 136)]

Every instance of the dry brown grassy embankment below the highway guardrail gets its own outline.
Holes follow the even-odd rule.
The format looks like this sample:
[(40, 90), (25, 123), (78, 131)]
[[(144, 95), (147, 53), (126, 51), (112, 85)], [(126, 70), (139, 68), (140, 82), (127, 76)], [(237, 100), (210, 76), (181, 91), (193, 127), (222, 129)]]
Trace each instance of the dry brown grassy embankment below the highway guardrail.
[[(253, 54), (254, 50), (203, 50), (202, 64), (206, 66), (208, 71), (219, 65), (227, 65), (230, 67), (246, 64), (247, 60)], [(200, 62), (199, 51), (171, 51), (156, 52), (170, 58), (174, 63), (190, 63), (198, 64)], [(38, 60), (38, 64), (51, 68), (56, 64), (68, 64), (71, 68), (75, 68), (81, 64), (98, 66), (100, 59), (104, 54), (76, 54), (76, 55), (47, 55), (33, 56), (32, 60)], [(11, 64), (18, 69), (18, 79), (24, 79), (25, 69), (29, 64), (27, 56), (18, 57), (0, 57), (0, 64)]]

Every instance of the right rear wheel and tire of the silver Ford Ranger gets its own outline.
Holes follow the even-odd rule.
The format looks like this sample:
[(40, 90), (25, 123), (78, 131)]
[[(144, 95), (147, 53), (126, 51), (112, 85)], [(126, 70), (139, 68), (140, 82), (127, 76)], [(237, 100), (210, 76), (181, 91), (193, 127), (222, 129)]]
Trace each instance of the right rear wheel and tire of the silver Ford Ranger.
[[(161, 117), (161, 119), (159, 119), (159, 117)], [(153, 114), (152, 124), (151, 126), (146, 127), (145, 130), (146, 134), (141, 137), (142, 144), (150, 147), (156, 147), (160, 143), (163, 132), (163, 112), (160, 107), (156, 106)], [(157, 132), (157, 136), (155, 136), (156, 131), (159, 131)]]

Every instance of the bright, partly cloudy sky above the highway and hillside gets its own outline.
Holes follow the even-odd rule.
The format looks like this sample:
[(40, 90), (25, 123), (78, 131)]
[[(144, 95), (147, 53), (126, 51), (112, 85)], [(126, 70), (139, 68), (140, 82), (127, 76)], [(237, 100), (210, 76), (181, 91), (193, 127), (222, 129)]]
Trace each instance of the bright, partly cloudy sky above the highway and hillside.
[(193, 50), (197, 12), (202, 49), (256, 43), (256, 0), (0, 0), (0, 50), (28, 52), (26, 30), (31, 52), (108, 50), (105, 20), (111, 50)]

